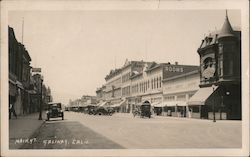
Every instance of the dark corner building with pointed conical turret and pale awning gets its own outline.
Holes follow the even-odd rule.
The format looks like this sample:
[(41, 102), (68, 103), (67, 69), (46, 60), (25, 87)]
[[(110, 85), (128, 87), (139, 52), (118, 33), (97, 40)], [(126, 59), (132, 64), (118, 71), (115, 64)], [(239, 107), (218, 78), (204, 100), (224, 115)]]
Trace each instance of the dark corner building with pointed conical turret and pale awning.
[(241, 31), (234, 30), (226, 15), (219, 32), (202, 40), (200, 89), (189, 106), (200, 118), (241, 119)]

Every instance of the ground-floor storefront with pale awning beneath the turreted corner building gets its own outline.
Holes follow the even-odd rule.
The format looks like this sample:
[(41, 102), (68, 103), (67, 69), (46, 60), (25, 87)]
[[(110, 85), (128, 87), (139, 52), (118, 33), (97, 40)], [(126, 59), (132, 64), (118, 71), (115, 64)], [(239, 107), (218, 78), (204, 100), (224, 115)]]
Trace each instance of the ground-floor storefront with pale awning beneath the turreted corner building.
[[(239, 90), (238, 90), (239, 91)], [(227, 95), (228, 94), (228, 95)], [(200, 88), (188, 101), (190, 117), (201, 119), (240, 119), (240, 96), (237, 90), (225, 92), (223, 86)], [(235, 99), (234, 99), (235, 98)]]

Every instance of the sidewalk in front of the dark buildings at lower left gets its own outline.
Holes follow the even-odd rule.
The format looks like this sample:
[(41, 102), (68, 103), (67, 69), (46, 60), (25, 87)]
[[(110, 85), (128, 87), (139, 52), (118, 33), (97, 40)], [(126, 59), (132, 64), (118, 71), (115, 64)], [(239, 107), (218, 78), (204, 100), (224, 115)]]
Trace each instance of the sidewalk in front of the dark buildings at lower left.
[(15, 144), (16, 140), (28, 139), (45, 122), (46, 113), (43, 112), (43, 120), (38, 120), (39, 113), (25, 116), (12, 116), (9, 120), (9, 149), (18, 149), (22, 144)]

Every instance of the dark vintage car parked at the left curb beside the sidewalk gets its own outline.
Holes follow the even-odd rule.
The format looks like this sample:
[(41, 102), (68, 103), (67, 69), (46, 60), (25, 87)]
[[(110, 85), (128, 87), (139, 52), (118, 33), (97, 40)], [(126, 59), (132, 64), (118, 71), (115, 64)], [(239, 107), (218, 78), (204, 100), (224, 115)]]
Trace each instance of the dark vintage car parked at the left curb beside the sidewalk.
[(64, 113), (62, 110), (61, 103), (55, 103), (55, 102), (48, 103), (48, 111), (46, 111), (46, 113), (47, 113), (47, 120), (50, 120), (50, 118), (58, 118), (58, 117), (61, 117), (62, 120), (64, 119)]

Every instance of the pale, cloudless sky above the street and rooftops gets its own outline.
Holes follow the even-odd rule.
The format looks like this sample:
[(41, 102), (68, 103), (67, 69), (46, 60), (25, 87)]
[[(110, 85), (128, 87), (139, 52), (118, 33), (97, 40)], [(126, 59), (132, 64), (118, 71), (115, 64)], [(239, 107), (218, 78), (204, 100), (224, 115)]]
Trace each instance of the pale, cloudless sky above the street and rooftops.
[[(240, 28), (240, 11), (228, 10)], [(8, 24), (42, 68), (54, 101), (96, 95), (111, 69), (125, 60), (199, 65), (206, 34), (220, 30), (225, 10), (11, 11)]]

